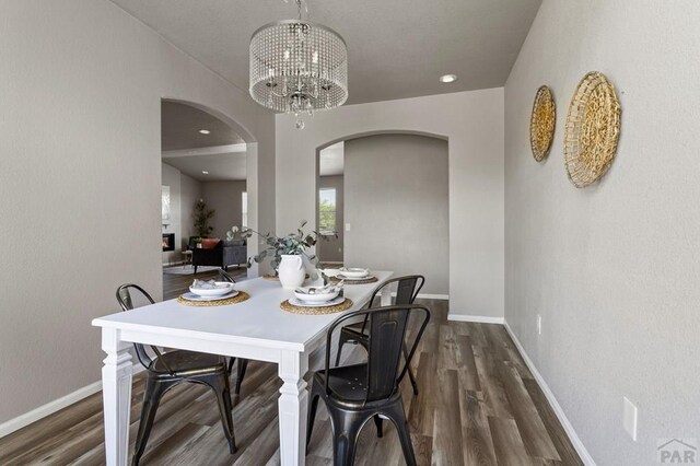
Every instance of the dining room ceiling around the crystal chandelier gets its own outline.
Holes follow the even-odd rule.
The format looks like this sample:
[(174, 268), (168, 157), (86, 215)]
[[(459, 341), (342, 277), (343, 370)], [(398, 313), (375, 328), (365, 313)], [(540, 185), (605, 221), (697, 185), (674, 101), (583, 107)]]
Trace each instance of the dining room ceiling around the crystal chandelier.
[[(112, 0), (247, 93), (259, 26), (295, 18), (282, 0)], [(541, 0), (307, 0), (348, 44), (349, 104), (502, 86)], [(455, 73), (451, 84), (438, 81)]]

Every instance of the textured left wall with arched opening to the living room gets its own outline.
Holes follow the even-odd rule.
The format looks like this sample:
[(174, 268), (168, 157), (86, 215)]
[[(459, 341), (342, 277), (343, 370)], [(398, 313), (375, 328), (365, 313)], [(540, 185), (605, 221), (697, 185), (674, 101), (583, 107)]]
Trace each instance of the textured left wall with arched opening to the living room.
[(161, 98), (202, 104), (255, 137), (265, 230), (275, 123), (108, 1), (5, 0), (0, 18), (0, 237), (12, 245), (0, 267), (2, 422), (100, 380), (91, 321), (117, 312), (118, 284), (162, 295)]

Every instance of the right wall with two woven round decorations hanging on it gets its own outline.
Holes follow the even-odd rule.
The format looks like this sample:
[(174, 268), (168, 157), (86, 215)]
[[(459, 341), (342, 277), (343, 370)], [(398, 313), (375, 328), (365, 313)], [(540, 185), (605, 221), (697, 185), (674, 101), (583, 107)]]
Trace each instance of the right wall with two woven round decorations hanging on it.
[[(656, 464), (660, 438), (700, 439), (699, 23), (695, 0), (545, 0), (505, 86), (505, 317), (599, 465)], [(609, 173), (576, 189), (562, 135), (592, 70), (617, 88), (621, 137)], [(557, 132), (536, 163), (541, 84)]]

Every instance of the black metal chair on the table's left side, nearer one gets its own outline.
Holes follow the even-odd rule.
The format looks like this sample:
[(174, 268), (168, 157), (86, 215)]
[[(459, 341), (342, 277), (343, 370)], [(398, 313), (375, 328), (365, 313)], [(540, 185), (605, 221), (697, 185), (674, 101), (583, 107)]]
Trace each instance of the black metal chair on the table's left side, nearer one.
[[(127, 283), (117, 289), (117, 301), (124, 311), (133, 310), (131, 292), (137, 291), (154, 304), (153, 299), (138, 284)], [(236, 452), (233, 433), (233, 418), (231, 416), (231, 389), (229, 386), (229, 371), (223, 357), (202, 352), (174, 350), (161, 352), (154, 346), (148, 346), (154, 356), (149, 354), (145, 345), (133, 343), (139, 362), (147, 369), (145, 393), (141, 408), (141, 421), (136, 438), (132, 465), (138, 465), (145, 444), (149, 440), (155, 411), (162, 396), (183, 382), (206, 385), (217, 395), (223, 433), (229, 441), (231, 454)]]

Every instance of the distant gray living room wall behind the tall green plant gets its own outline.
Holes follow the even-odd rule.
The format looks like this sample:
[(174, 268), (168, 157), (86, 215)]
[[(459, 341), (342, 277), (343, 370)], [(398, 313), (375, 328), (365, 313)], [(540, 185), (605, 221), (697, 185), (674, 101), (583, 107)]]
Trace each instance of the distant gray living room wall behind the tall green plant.
[(214, 230), (212, 237), (226, 237), (226, 231), (233, 225), (241, 228), (241, 194), (245, 191), (245, 182), (205, 182), (201, 196), (210, 209), (217, 212), (211, 220)]

